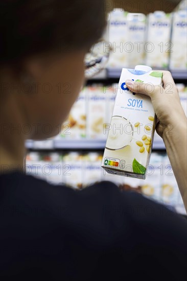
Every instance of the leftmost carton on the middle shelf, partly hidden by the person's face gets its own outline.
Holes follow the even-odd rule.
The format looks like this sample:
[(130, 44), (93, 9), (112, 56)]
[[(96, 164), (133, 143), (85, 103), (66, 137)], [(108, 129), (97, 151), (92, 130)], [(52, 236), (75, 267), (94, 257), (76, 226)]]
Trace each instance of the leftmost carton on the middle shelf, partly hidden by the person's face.
[(60, 137), (67, 139), (83, 139), (86, 137), (86, 87), (79, 93), (68, 118), (63, 123)]

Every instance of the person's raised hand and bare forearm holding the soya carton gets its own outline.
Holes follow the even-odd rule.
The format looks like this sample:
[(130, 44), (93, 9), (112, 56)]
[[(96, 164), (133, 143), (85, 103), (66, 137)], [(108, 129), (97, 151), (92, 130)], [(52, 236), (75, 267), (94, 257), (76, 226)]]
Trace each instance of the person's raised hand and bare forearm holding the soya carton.
[(163, 72), (163, 87), (131, 80), (127, 80), (126, 85), (131, 91), (151, 98), (157, 116), (156, 131), (165, 143), (187, 211), (187, 119), (171, 73)]

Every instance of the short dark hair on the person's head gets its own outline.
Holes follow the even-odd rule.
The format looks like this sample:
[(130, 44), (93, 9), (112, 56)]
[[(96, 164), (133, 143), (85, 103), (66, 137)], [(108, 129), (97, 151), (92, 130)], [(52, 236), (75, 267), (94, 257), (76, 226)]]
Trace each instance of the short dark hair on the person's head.
[(104, 0), (1, 0), (0, 59), (89, 48), (106, 25)]

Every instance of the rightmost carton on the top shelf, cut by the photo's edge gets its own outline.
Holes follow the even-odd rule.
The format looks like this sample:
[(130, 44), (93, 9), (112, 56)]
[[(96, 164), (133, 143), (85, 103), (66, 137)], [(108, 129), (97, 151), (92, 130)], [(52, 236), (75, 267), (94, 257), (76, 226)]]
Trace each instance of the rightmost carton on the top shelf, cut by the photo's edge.
[(187, 11), (178, 11), (173, 15), (172, 53), (170, 69), (186, 70), (187, 66)]

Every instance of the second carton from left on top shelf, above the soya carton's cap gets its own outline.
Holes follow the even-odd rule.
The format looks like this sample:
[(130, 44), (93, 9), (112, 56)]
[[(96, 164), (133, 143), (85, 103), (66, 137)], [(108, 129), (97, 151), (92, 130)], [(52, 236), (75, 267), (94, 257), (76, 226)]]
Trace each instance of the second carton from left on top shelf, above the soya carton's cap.
[(128, 13), (128, 67), (144, 63), (144, 45), (146, 35), (146, 16), (140, 13)]

